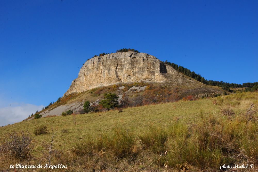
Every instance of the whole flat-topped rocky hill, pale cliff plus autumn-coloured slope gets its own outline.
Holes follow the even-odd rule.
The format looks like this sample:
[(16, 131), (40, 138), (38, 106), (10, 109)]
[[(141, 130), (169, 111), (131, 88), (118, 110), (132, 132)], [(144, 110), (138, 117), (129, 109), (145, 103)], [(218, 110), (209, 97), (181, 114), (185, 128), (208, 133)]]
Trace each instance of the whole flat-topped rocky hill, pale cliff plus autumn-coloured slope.
[[(42, 117), (59, 116), (67, 110), (82, 113), (85, 101), (98, 104), (108, 92), (118, 95), (119, 100), (128, 96), (132, 102), (130, 106), (227, 93), (220, 87), (198, 82), (146, 53), (129, 51), (101, 55), (88, 59), (64, 96), (38, 113)], [(133, 103), (139, 97), (142, 103)]]

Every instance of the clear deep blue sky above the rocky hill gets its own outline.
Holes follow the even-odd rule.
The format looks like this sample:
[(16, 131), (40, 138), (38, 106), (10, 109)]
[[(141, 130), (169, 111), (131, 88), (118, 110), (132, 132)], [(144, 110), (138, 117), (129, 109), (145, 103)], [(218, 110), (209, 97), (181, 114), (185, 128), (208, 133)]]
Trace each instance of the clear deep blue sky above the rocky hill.
[(1, 1), (0, 118), (56, 101), (88, 58), (121, 48), (206, 79), (258, 82), (257, 9), (258, 1)]

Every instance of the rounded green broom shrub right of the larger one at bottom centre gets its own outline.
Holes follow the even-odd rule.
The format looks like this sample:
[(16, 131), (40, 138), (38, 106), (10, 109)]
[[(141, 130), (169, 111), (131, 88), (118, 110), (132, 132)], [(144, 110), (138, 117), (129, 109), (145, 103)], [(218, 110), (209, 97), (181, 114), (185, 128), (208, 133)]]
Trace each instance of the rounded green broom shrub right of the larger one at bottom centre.
[(153, 153), (165, 152), (165, 142), (168, 139), (167, 132), (160, 127), (151, 127), (145, 134), (139, 135), (143, 149), (151, 149)]

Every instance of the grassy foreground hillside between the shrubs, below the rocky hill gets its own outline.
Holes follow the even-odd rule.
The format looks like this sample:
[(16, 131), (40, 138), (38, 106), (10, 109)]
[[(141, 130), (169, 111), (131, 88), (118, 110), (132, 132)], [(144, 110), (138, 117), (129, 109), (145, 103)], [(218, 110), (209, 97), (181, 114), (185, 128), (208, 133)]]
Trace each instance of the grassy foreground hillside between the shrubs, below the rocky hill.
[[(119, 113), (117, 110), (108, 111), (108, 112), (99, 112), (99, 113), (92, 113), (92, 114), (79, 114), (79, 115), (70, 115), (70, 116), (55, 116), (51, 118), (41, 118), (36, 120), (29, 120), (29, 121), (22, 121), (13, 125), (8, 125), (5, 127), (0, 128), (1, 138), (3, 139), (4, 134), (10, 133), (15, 131), (19, 133), (21, 130), (28, 131), (31, 133), (32, 137), (34, 138), (33, 144), (34, 148), (31, 152), (33, 159), (30, 160), (31, 164), (42, 163), (44, 164), (46, 160), (44, 160), (44, 155), (42, 154), (44, 143), (49, 143), (51, 140), (52, 133), (49, 132), (47, 134), (37, 135), (35, 136), (32, 134), (35, 127), (44, 124), (47, 129), (51, 129), (51, 125), (53, 125), (54, 130), (57, 130), (56, 136), (54, 137), (53, 142), (53, 149), (54, 149), (54, 156), (53, 156), (53, 163), (62, 163), (68, 164), (70, 167), (66, 171), (92, 171), (95, 170), (104, 170), (105, 171), (114, 171), (115, 169), (120, 170), (129, 170), (129, 171), (142, 171), (143, 169), (147, 170), (164, 170), (168, 168), (168, 171), (174, 171), (177, 168), (181, 168), (176, 166), (173, 159), (170, 159), (173, 151), (171, 152), (170, 142), (173, 140), (171, 139), (171, 134), (173, 135), (176, 130), (174, 127), (178, 127), (180, 124), (181, 128), (178, 134), (182, 135), (185, 131), (184, 126), (187, 126), (189, 129), (189, 139), (186, 140), (185, 143), (189, 142), (193, 138), (204, 137), (205, 135), (198, 135), (201, 132), (211, 132), (213, 134), (218, 135), (218, 137), (222, 137), (223, 139), (229, 139), (232, 143), (224, 142), (222, 145), (228, 146), (226, 152), (217, 152), (216, 149), (213, 149), (212, 144), (207, 145), (211, 149), (212, 153), (214, 154), (216, 159), (214, 159), (213, 155), (208, 155), (208, 150), (205, 153), (205, 156), (208, 157), (208, 161), (203, 161), (202, 163), (208, 163), (203, 168), (211, 168), (214, 170), (219, 170), (217, 167), (221, 163), (228, 162), (230, 164), (234, 163), (244, 163), (248, 162), (256, 164), (255, 157), (258, 156), (256, 154), (257, 150), (253, 146), (257, 145), (257, 128), (258, 123), (257, 120), (257, 92), (254, 93), (237, 93), (233, 95), (228, 95), (224, 97), (216, 97), (212, 99), (200, 99), (197, 101), (179, 101), (174, 103), (164, 103), (164, 104), (157, 104), (157, 105), (147, 105), (141, 107), (132, 107), (126, 108), (123, 112)], [(254, 104), (254, 105), (252, 105)], [(251, 106), (251, 108), (250, 108)], [(226, 114), (223, 115), (225, 108), (229, 107), (231, 116), (227, 116)], [(227, 108), (226, 108), (227, 109)], [(227, 113), (227, 112), (226, 112)], [(251, 118), (251, 116), (252, 118)], [(244, 117), (244, 118), (243, 118)], [(215, 121), (214, 121), (215, 120)], [(214, 123), (214, 122), (215, 123)], [(182, 126), (181, 126), (182, 125)], [(141, 147), (141, 137), (138, 138), (138, 135), (142, 135), (144, 133), (148, 133), (151, 131), (153, 127), (159, 126), (164, 131), (160, 131), (160, 129), (155, 129), (155, 131), (160, 132), (168, 132), (169, 139), (165, 141), (165, 147), (162, 147), (162, 150), (166, 150), (168, 152), (167, 155), (163, 155), (161, 158), (168, 158), (159, 159), (159, 151), (152, 150), (153, 152), (149, 152), (148, 149), (143, 149)], [(205, 128), (203, 128), (205, 126)], [(224, 126), (220, 128), (220, 126)], [(93, 153), (90, 154), (88, 157), (85, 154), (83, 157), (76, 156), (72, 150), (78, 149), (76, 145), (77, 143), (87, 143), (90, 144), (87, 140), (88, 138), (98, 138), (99, 135), (103, 135), (103, 139), (114, 132), (114, 128), (124, 128), (129, 131), (132, 131), (132, 137), (136, 139), (136, 147), (135, 150), (137, 153), (136, 157), (132, 157), (133, 159), (129, 158), (127, 160), (120, 159), (121, 161), (117, 161), (109, 156), (115, 156), (113, 154), (109, 154), (108, 148), (104, 149), (104, 157), (102, 154)], [(172, 128), (171, 128), (172, 127)], [(208, 127), (208, 128), (206, 128)], [(209, 128), (211, 127), (211, 128)], [(187, 130), (186, 128), (186, 130)], [(66, 129), (68, 133), (61, 132), (63, 129)], [(173, 131), (172, 131), (173, 129)], [(205, 131), (203, 131), (205, 129)], [(119, 129), (123, 131), (123, 129)], [(196, 132), (195, 132), (196, 130)], [(235, 132), (235, 133), (234, 133)], [(245, 134), (245, 133), (249, 134)], [(231, 139), (228, 138), (228, 135), (231, 133)], [(127, 133), (128, 134), (128, 133)], [(130, 134), (130, 133), (129, 133)], [(158, 133), (157, 133), (158, 134)], [(163, 133), (164, 134), (164, 133)], [(175, 134), (175, 133), (174, 133)], [(197, 135), (196, 135), (197, 134)], [(192, 135), (192, 136), (191, 136)], [(245, 142), (246, 139), (250, 139), (249, 137), (255, 136), (255, 138), (248, 142)], [(179, 136), (178, 136), (179, 137)], [(181, 137), (181, 136), (180, 136)], [(248, 137), (248, 138), (246, 138)], [(217, 137), (215, 137), (217, 138)], [(213, 137), (208, 137), (210, 141), (215, 141), (215, 144), (219, 146), (220, 144), (218, 141), (220, 140), (212, 140), (215, 139)], [(121, 138), (120, 138), (121, 139)], [(174, 138), (175, 139), (175, 138)], [(201, 139), (201, 138), (199, 138)], [(93, 139), (94, 140), (94, 139)], [(177, 139), (176, 139), (177, 140)], [(194, 141), (194, 140), (192, 140)], [(119, 141), (118, 143), (119, 144)], [(175, 144), (175, 143), (174, 143)], [(174, 145), (173, 144), (173, 145)], [(176, 143), (178, 144), (178, 143)], [(182, 144), (182, 143), (180, 143)], [(190, 144), (190, 142), (188, 143)], [(196, 144), (196, 143), (195, 143)], [(247, 145), (248, 144), (248, 145)], [(138, 146), (137, 146), (138, 145)], [(139, 147), (140, 146), (140, 147)], [(182, 146), (182, 145), (181, 145)], [(200, 145), (201, 146), (201, 145)], [(232, 147), (233, 146), (233, 147)], [(188, 145), (189, 149), (193, 149)], [(196, 147), (196, 146), (195, 146)], [(239, 152), (239, 147), (242, 151)], [(74, 148), (74, 149), (73, 149)], [(220, 149), (220, 146), (218, 147)], [(248, 148), (248, 149), (247, 149)], [(88, 149), (88, 148), (87, 148)], [(154, 148), (153, 148), (154, 149)], [(223, 148), (225, 149), (225, 148)], [(249, 149), (254, 151), (249, 152)], [(84, 151), (84, 150), (80, 150)], [(86, 151), (86, 150), (85, 150)], [(187, 153), (187, 149), (182, 148), (180, 151), (185, 151)], [(190, 150), (189, 150), (190, 151)], [(108, 153), (109, 152), (109, 153)], [(155, 153), (156, 152), (156, 153)], [(178, 152), (179, 154), (175, 154), (173, 156), (180, 156), (183, 158), (183, 152)], [(232, 155), (237, 155), (232, 158)], [(61, 156), (61, 157), (60, 157)], [(97, 156), (97, 157), (96, 157)], [(108, 156), (109, 159), (106, 157)], [(204, 155), (199, 155), (204, 156)], [(219, 158), (220, 156), (220, 158)], [(231, 160), (227, 159), (230, 156)], [(66, 158), (67, 157), (67, 158)], [(69, 157), (69, 158), (68, 158)], [(150, 159), (145, 159), (143, 157), (148, 157)], [(213, 158), (212, 158), (213, 157)], [(86, 158), (87, 160), (85, 161)], [(89, 158), (89, 159), (88, 159)], [(97, 158), (97, 159), (96, 159)], [(110, 159), (111, 158), (111, 159)], [(156, 159), (157, 158), (157, 159)], [(203, 157), (199, 157), (197, 164), (195, 162), (191, 162), (187, 160), (181, 162), (182, 166), (185, 166), (189, 169), (195, 169), (198, 171)], [(131, 159), (131, 160), (130, 160)], [(157, 162), (160, 161), (159, 162)], [(168, 161), (168, 163), (166, 162)], [(0, 164), (1, 169), (8, 169), (9, 167), (6, 164), (15, 163), (12, 159), (6, 158), (6, 156), (2, 156), (2, 161)], [(20, 162), (20, 161), (19, 161)], [(26, 161), (22, 161), (26, 163)], [(151, 163), (152, 162), (152, 163)], [(187, 162), (186, 164), (184, 164)], [(214, 164), (216, 162), (216, 164)], [(128, 164), (129, 163), (129, 164)], [(134, 170), (130, 167), (130, 163), (135, 164)], [(180, 163), (177, 161), (176, 163)], [(149, 166), (150, 165), (150, 166)], [(165, 165), (165, 166), (164, 166)], [(174, 169), (174, 170), (173, 170)], [(7, 170), (8, 171), (8, 170)], [(17, 170), (19, 171), (19, 170)], [(43, 170), (44, 171), (44, 170)], [(56, 169), (56, 171), (60, 171)]]

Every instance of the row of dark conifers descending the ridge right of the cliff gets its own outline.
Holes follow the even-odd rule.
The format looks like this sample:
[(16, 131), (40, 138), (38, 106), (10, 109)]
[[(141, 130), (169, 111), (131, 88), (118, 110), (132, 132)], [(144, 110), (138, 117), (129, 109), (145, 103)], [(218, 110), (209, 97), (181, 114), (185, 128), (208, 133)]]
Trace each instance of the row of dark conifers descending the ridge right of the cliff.
[(184, 75), (189, 76), (203, 84), (219, 86), (219, 87), (222, 87), (222, 89), (228, 90), (228, 91), (230, 91), (229, 87), (231, 87), (231, 88), (242, 88), (242, 87), (256, 88), (258, 85), (258, 82), (235, 84), (235, 83), (227, 83), (227, 82), (223, 82), (223, 81), (219, 82), (219, 81), (214, 81), (214, 80), (207, 80), (204, 77), (202, 77), (200, 74), (196, 74), (194, 71), (191, 71), (183, 66), (178, 66), (177, 64), (171, 63), (167, 60), (164, 63), (172, 66), (175, 70), (177, 70), (177, 71), (183, 73)]

